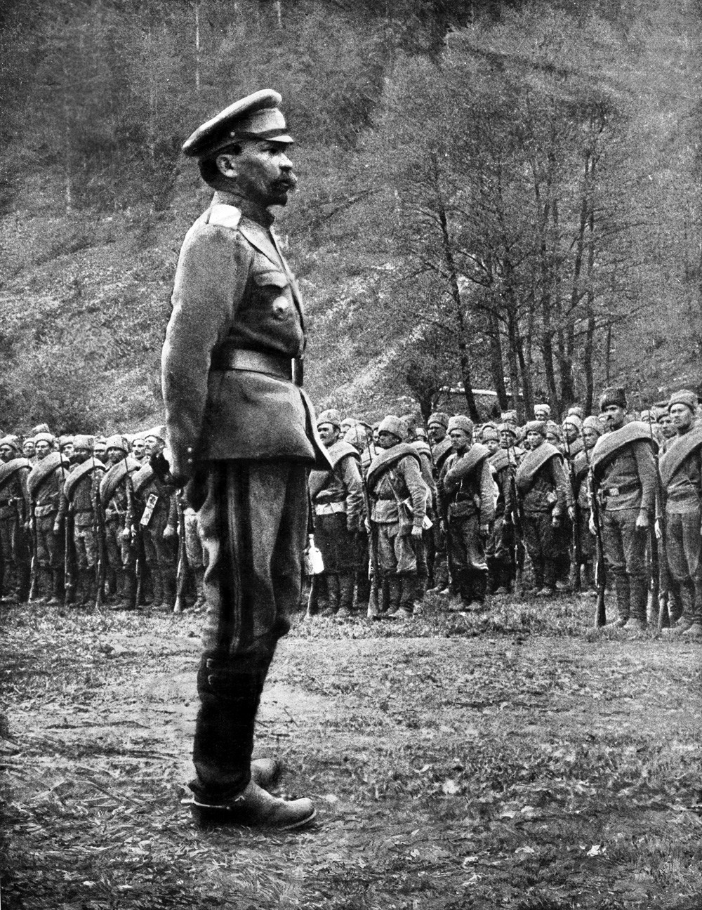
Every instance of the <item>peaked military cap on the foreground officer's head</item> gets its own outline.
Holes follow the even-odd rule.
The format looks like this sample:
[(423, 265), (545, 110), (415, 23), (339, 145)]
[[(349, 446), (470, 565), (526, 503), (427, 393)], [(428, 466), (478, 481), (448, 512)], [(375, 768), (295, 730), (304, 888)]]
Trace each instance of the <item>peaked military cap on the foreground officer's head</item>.
[(269, 139), (271, 142), (293, 142), (287, 135), (286, 118), (278, 109), (280, 95), (264, 88), (247, 95), (198, 126), (183, 144), (188, 157), (207, 157), (220, 148), (247, 139)]

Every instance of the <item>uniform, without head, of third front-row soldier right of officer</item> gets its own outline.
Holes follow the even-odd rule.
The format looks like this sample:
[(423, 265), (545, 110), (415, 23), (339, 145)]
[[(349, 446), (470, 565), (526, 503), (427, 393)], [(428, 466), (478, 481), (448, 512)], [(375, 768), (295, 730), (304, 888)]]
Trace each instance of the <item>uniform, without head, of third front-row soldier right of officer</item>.
[(439, 501), (446, 516), (448, 565), (464, 604), (485, 601), (487, 562), (481, 525), (495, 517), (495, 484), (490, 452), (476, 442), (465, 452), (454, 452), (438, 481)]

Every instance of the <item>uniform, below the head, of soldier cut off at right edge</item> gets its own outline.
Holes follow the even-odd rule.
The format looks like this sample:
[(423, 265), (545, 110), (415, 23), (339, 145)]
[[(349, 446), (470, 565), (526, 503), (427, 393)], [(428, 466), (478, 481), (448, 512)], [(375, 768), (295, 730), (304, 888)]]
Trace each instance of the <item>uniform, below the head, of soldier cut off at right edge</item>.
[(666, 557), (684, 622), (702, 623), (702, 427), (692, 427), (660, 459), (666, 502)]

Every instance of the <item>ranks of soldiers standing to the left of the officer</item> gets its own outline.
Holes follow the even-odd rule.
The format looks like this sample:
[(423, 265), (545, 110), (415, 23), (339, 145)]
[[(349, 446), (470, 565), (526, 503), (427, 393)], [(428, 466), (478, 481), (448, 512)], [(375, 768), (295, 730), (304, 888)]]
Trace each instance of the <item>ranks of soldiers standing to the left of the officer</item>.
[(40, 425), (24, 442), (0, 440), (5, 601), (202, 604), (196, 516), (169, 483), (164, 450), (162, 427), (95, 439)]

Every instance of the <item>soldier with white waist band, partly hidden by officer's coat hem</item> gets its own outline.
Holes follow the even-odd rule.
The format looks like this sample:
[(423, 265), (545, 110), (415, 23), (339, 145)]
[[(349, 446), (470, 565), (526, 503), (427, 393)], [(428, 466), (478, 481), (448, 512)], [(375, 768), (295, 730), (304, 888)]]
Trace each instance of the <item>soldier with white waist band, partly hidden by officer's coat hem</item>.
[[(315, 541), (324, 561), (328, 610), (349, 616), (354, 603), (356, 534), (363, 524), (363, 486), (357, 450), (339, 439), (341, 417), (337, 410), (325, 410), (316, 429), (331, 462), (331, 470), (312, 470), (309, 492), (315, 511)], [(313, 580), (312, 598), (316, 594)], [(310, 614), (314, 614), (311, 604)]]

